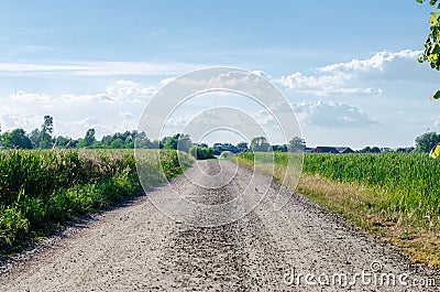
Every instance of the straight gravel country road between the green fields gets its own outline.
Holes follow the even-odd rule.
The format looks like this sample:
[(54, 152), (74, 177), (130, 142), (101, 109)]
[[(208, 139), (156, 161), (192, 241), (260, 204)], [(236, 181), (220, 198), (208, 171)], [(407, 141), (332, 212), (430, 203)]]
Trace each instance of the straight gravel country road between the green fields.
[[(274, 212), (277, 192), (288, 191), (268, 176), (255, 174), (252, 186), (258, 192), (271, 185), (263, 202), (227, 225), (193, 227), (157, 210), (148, 196), (166, 196), (170, 187), (215, 205), (237, 197), (253, 175), (229, 161), (198, 165), (170, 185), (53, 239), (30, 259), (3, 267), (0, 290), (340, 291), (353, 284), (351, 291), (438, 291), (432, 271), (410, 264), (301, 196), (293, 195)], [(201, 170), (219, 180), (220, 166), (238, 167), (221, 187), (204, 188), (187, 179)]]

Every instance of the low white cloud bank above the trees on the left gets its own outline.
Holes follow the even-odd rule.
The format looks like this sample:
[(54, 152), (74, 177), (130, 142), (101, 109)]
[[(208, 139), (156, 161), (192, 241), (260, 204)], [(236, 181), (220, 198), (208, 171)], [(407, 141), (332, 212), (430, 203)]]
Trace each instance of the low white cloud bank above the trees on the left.
[[(2, 130), (38, 128), (43, 116), (54, 117), (55, 134), (84, 137), (95, 128), (97, 137), (135, 129), (148, 98), (156, 91), (132, 80), (118, 80), (101, 93), (47, 95), (18, 90), (0, 97)], [(18, 110), (20, 109), (20, 110)]]

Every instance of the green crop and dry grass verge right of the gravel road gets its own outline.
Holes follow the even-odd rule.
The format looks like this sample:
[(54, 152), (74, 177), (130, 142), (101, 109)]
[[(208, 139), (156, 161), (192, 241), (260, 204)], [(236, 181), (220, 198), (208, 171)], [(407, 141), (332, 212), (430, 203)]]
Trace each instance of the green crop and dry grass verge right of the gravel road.
[[(297, 154), (272, 154), (274, 162), (252, 152), (238, 161), (248, 167), (275, 163), (274, 177), (280, 181), (289, 156)], [(305, 154), (297, 192), (393, 242), (414, 261), (439, 269), (439, 169), (440, 161), (421, 153)]]

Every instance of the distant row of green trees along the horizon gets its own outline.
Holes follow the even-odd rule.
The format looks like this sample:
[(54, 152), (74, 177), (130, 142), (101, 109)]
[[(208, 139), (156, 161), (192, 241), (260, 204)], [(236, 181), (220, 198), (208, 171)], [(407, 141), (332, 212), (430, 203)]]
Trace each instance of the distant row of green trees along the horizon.
[[(53, 136), (54, 119), (51, 116), (44, 116), (43, 123), (40, 128), (35, 128), (26, 133), (22, 128), (12, 131), (2, 132), (0, 128), (0, 149), (175, 149), (190, 153), (193, 147), (199, 150), (193, 150), (191, 153), (200, 153), (202, 156), (212, 156), (212, 154), (221, 152), (221, 147), (228, 150), (228, 147), (239, 149), (240, 151), (258, 151), (258, 152), (301, 152), (306, 149), (306, 141), (302, 138), (294, 137), (288, 144), (272, 145), (265, 137), (255, 137), (251, 144), (248, 142), (239, 142), (237, 145), (231, 143), (216, 143), (213, 148), (209, 148), (206, 143), (194, 143), (188, 134), (176, 133), (172, 137), (164, 137), (161, 140), (152, 141), (145, 132), (136, 130), (117, 132), (103, 136), (101, 140), (97, 140), (95, 129), (88, 129), (84, 138), (73, 139), (64, 136)], [(429, 152), (436, 144), (440, 143), (440, 134), (437, 132), (426, 132), (415, 140), (416, 147), (398, 148), (395, 152)], [(220, 147), (220, 148), (219, 148)], [(206, 150), (201, 150), (206, 149)], [(210, 149), (210, 150), (209, 150)], [(201, 152), (200, 152), (201, 151)], [(205, 151), (205, 152), (204, 152)], [(359, 153), (381, 153), (378, 147), (365, 147), (358, 151)]]

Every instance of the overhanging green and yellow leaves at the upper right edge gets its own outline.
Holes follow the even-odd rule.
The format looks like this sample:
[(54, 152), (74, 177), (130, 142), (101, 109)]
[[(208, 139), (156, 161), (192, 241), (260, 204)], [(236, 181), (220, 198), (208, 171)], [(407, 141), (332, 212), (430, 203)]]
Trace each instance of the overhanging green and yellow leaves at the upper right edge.
[[(418, 3), (424, 3), (426, 0), (416, 0)], [(436, 7), (437, 11), (431, 13), (429, 18), (429, 29), (428, 37), (425, 41), (425, 52), (420, 56), (419, 62), (428, 62), (431, 68), (440, 71), (440, 0), (429, 0), (428, 3), (431, 7)], [(440, 98), (440, 90), (432, 96), (435, 99)]]

